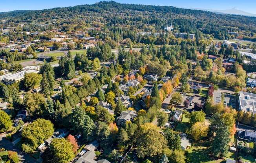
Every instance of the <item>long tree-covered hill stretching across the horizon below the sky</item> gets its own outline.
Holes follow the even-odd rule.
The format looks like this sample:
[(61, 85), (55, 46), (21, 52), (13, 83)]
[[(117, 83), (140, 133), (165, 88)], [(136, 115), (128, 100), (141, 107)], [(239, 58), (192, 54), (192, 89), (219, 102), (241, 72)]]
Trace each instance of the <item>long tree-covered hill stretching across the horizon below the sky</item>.
[[(223, 35), (223, 31), (251, 31), (256, 33), (256, 17), (216, 14), (208, 11), (180, 9), (170, 6), (120, 4), (114, 1), (92, 5), (78, 5), (38, 11), (13, 11), (0, 13), (6, 23), (20, 22), (63, 24), (87, 24), (89, 26), (120, 26), (147, 29), (154, 26), (163, 29), (165, 22), (174, 22), (177, 31)], [(224, 33), (225, 34), (225, 33)]]

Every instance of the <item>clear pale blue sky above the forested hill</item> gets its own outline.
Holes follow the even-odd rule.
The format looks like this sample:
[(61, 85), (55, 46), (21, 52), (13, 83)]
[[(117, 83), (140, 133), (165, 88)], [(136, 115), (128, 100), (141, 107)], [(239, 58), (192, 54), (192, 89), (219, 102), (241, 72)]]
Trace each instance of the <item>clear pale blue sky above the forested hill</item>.
[[(13, 10), (37, 10), (94, 4), (101, 0), (0, 0), (0, 12)], [(181, 8), (237, 9), (256, 14), (256, 0), (115, 0), (120, 3), (170, 5)]]

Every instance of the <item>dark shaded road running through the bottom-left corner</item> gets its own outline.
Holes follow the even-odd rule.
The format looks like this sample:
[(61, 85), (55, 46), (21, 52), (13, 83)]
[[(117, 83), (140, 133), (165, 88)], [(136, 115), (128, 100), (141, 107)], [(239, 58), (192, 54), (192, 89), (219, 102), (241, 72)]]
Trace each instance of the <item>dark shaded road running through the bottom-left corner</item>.
[(20, 149), (17, 149), (10, 141), (8, 141), (5, 138), (5, 134), (0, 135), (0, 148), (17, 152), (20, 158), (20, 161), (22, 163), (39, 163), (36, 159), (31, 157), (29, 154), (26, 154), (22, 152)]

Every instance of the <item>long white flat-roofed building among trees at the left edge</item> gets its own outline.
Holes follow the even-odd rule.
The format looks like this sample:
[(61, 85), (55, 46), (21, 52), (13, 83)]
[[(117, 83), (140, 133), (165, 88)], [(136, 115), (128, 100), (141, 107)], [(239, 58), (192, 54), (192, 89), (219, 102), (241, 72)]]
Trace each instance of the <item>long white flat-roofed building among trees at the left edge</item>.
[(26, 73), (31, 73), (31, 72), (38, 73), (39, 71), (32, 69), (32, 70), (20, 71), (20, 72), (17, 72), (15, 74), (8, 73), (8, 74), (5, 74), (3, 76), (0, 76), (0, 80), (3, 81), (6, 84), (15, 83), (15, 82), (18, 82), (18, 81), (22, 80)]

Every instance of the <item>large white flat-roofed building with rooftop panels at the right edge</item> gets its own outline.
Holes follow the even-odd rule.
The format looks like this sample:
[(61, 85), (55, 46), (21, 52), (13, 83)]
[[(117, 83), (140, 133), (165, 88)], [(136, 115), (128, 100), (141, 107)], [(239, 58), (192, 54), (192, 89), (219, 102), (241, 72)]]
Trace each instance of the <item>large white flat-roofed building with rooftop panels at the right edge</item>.
[(239, 109), (243, 112), (256, 113), (256, 94), (239, 92)]

